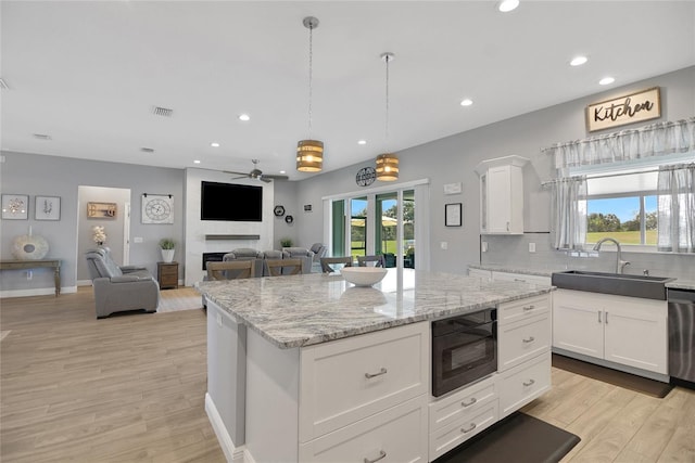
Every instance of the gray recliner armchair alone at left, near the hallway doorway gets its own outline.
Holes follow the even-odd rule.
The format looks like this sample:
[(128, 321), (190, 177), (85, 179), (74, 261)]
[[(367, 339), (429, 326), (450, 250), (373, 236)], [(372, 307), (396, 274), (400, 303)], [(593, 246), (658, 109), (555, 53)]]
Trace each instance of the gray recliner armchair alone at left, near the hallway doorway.
[(98, 319), (127, 310), (156, 311), (160, 285), (146, 268), (116, 265), (108, 247), (90, 249), (85, 257), (94, 288)]

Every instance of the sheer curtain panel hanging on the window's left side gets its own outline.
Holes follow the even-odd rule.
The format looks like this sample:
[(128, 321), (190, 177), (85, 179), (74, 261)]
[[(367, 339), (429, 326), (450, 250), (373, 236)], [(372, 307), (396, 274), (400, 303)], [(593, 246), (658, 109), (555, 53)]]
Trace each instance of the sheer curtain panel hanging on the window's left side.
[(553, 182), (556, 249), (582, 249), (586, 241), (586, 177)]

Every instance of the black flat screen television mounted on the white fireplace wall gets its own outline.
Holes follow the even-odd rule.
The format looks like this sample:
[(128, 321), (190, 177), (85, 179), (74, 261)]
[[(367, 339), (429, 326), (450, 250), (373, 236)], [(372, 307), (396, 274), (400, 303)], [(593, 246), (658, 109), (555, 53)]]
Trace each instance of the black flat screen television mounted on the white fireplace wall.
[(201, 182), (200, 219), (262, 221), (263, 187)]

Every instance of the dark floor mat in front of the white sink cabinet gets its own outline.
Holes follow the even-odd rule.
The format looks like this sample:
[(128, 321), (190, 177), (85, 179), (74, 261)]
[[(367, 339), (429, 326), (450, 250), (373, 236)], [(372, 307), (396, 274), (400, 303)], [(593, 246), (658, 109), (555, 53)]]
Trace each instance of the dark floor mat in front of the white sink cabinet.
[(566, 370), (582, 376), (603, 381), (604, 383), (620, 386), (636, 393), (646, 394), (647, 396), (665, 398), (673, 388), (668, 383), (649, 380), (630, 373), (623, 373), (606, 366), (595, 365), (593, 363), (581, 360), (571, 359), (569, 357), (553, 353), (553, 366)]

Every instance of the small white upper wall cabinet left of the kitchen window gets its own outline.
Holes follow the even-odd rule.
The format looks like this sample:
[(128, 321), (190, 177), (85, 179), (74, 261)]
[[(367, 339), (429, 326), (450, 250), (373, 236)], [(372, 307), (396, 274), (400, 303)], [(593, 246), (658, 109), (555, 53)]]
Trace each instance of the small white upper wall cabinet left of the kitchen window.
[(480, 233), (523, 233), (523, 166), (521, 156), (483, 160), (480, 176)]

